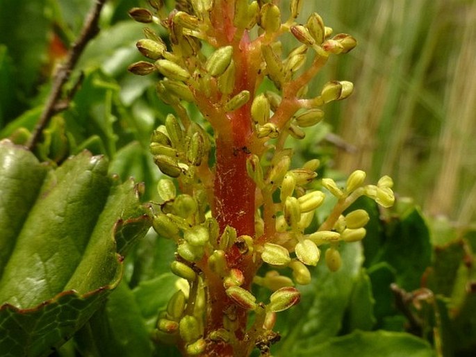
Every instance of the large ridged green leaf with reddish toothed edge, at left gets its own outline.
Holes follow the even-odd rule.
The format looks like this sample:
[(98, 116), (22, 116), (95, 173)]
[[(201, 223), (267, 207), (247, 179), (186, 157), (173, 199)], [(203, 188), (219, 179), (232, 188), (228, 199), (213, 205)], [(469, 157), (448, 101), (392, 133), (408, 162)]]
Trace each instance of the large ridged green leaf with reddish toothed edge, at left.
[(144, 235), (150, 219), (138, 186), (110, 178), (104, 157), (83, 152), (47, 172), (32, 153), (4, 140), (0, 162), (0, 209), (19, 214), (10, 232), (8, 215), (0, 216), (1, 233), (8, 233), (0, 242), (10, 247), (0, 280), (0, 351), (42, 356), (119, 283), (117, 248), (123, 253)]

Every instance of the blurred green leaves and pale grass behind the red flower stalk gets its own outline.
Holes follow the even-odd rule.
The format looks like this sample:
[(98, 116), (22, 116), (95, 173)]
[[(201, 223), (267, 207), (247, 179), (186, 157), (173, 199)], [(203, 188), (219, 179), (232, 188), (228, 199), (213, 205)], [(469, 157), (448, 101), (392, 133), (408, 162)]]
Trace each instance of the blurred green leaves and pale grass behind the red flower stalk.
[[(26, 141), (54, 67), (77, 37), (90, 5), (0, 0), (0, 138)], [(73, 73), (74, 79), (83, 72), (81, 88), (69, 110), (54, 117), (35, 154), (52, 167), (83, 149), (104, 154), (109, 173), (145, 182), (142, 199), (148, 201), (156, 195), (159, 177), (148, 153), (149, 135), (170, 109), (156, 99), (151, 78), (126, 71), (140, 60), (135, 42), (143, 37), (127, 10), (142, 5), (145, 1), (106, 3), (101, 33)], [(307, 1), (304, 9), (318, 10), (328, 26), (354, 35), (359, 47), (334, 59), (311, 86), (312, 91), (329, 79), (348, 79), (356, 92), (331, 104), (326, 124), (293, 144), (295, 165), (317, 156), (336, 179), (356, 168), (366, 170), (371, 181), (389, 174), (400, 199), (385, 213), (358, 202), (370, 211), (373, 229), (362, 246), (344, 247), (339, 272), (315, 268), (313, 283), (300, 287), (302, 303), (279, 317), (283, 338), (273, 353), (338, 357), (358, 349), (364, 357), (473, 356), (476, 3)], [(2, 215), (0, 222), (5, 219)], [(176, 289), (168, 272), (172, 252), (168, 241), (152, 233), (140, 240), (108, 303), (54, 353), (176, 353), (150, 339), (158, 310)], [(392, 283), (397, 284), (393, 290)], [(0, 340), (11, 329), (1, 318), (6, 329)], [(101, 343), (105, 340), (110, 343)]]

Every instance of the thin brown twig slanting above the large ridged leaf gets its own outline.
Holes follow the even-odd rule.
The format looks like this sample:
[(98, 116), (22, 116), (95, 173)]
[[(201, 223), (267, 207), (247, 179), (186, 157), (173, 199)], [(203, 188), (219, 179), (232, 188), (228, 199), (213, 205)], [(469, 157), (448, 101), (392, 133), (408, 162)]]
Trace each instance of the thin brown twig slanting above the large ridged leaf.
[(85, 19), (83, 28), (81, 28), (81, 34), (79, 35), (79, 38), (76, 40), (76, 42), (74, 42), (71, 49), (68, 51), (65, 63), (60, 65), (60, 67), (58, 67), (56, 70), (53, 87), (51, 88), (51, 92), (49, 93), (49, 97), (41, 113), (40, 119), (35, 126), (35, 130), (33, 131), (33, 134), (26, 145), (28, 149), (33, 150), (36, 144), (38, 144), (41, 139), (42, 132), (44, 128), (47, 127), (51, 117), (69, 108), (69, 103), (72, 101), (76, 90), (79, 88), (80, 82), (74, 85), (73, 90), (69, 92), (65, 98), (63, 98), (63, 86), (69, 80), (69, 76), (71, 76), (72, 70), (76, 66), (76, 63), (78, 63), (78, 60), (81, 56), (81, 53), (83, 53), (86, 44), (88, 44), (88, 42), (95, 38), (97, 33), (99, 33), (99, 15), (101, 14), (104, 3), (106, 3), (106, 0), (95, 1), (95, 4), (90, 9), (88, 16)]

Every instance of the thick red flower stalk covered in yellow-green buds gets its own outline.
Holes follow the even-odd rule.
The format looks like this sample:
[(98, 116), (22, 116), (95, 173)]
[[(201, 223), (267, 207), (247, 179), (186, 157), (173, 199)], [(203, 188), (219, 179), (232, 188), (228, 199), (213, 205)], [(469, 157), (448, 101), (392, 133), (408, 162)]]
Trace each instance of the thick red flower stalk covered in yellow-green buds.
[[(322, 106), (353, 90), (348, 81), (331, 81), (313, 95), (307, 85), (329, 56), (351, 51), (356, 40), (332, 35), (317, 13), (297, 23), (299, 0), (290, 1), (283, 21), (277, 2), (181, 0), (168, 13), (163, 1), (149, 0), (150, 10), (130, 13), (169, 34), (165, 44), (146, 28), (137, 47), (148, 60), (129, 70), (158, 73), (158, 96), (175, 112), (151, 137), (156, 165), (179, 187), (158, 182), (154, 229), (177, 243), (171, 269), (188, 289), (170, 300), (156, 338), (177, 343), (184, 356), (249, 356), (254, 348), (266, 356), (279, 340), (272, 331), (277, 313), (299, 303), (294, 285), (310, 283), (307, 266), (318, 263), (322, 246), (329, 245), (325, 263), (336, 271), (345, 264), (339, 244), (366, 235), (368, 214), (344, 211), (363, 195), (393, 204), (387, 176), (366, 185), (366, 174), (356, 171), (339, 187), (317, 178), (318, 160), (292, 168), (286, 138), (304, 138), (303, 128), (322, 120)], [(289, 53), (279, 42), (286, 33), (296, 40)], [(263, 91), (265, 82), (274, 90)], [(192, 120), (192, 106), (203, 125)], [(315, 180), (337, 203), (317, 231), (305, 233), (326, 197), (309, 189)], [(264, 263), (287, 267), (293, 279), (277, 270), (258, 276)], [(268, 301), (257, 301), (254, 284), (270, 290)]]

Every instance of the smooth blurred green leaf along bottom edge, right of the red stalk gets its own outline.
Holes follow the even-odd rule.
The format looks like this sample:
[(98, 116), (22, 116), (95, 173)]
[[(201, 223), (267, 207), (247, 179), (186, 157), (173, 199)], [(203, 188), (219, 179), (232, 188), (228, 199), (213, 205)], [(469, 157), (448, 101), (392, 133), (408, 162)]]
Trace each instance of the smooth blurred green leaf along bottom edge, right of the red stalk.
[[(299, 349), (296, 357), (433, 357), (434, 352), (425, 340), (388, 331), (355, 331), (350, 335), (331, 338), (315, 347)], [(284, 355), (280, 355), (284, 356)]]

